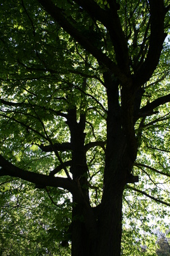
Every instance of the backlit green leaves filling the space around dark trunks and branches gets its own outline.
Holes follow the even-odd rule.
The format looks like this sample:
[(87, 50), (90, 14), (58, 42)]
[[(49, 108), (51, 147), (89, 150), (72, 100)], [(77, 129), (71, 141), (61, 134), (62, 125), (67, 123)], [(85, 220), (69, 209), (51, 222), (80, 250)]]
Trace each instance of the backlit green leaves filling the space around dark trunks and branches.
[[(0, 10), (1, 154), (23, 170), (46, 175), (57, 170), (55, 176), (66, 177), (63, 162), (72, 177), (67, 116), (74, 109), (77, 124), (85, 118), (83, 132), (88, 173), (83, 188), (89, 187), (90, 204), (99, 205), (103, 194), (108, 114), (103, 73), (108, 69), (113, 72), (112, 64), (117, 63), (115, 35), (111, 37), (113, 31), (108, 29), (113, 20), (108, 24), (102, 22), (103, 17), (94, 18), (87, 12), (88, 8), (76, 1), (53, 1), (76, 33), (84, 36), (97, 54), (100, 52), (110, 60), (111, 64), (106, 65), (103, 59), (95, 58), (90, 50), (81, 46), (72, 33), (69, 35), (61, 28), (37, 1), (3, 2)], [(94, 1), (105, 15), (113, 11), (108, 2)], [(148, 54), (151, 35), (148, 4), (147, 1), (117, 1), (129, 54), (128, 76), (132, 80)], [(166, 17), (166, 32), (168, 22)], [(123, 255), (141, 255), (146, 248), (145, 254), (153, 255), (155, 237), (150, 236), (155, 228), (153, 218), (157, 218), (158, 225), (163, 225), (169, 213), (166, 207), (157, 204), (170, 203), (169, 102), (157, 104), (150, 113), (142, 112), (144, 107), (169, 93), (169, 56), (169, 45), (165, 44), (159, 65), (150, 81), (142, 85), (145, 92), (141, 109), (135, 116), (139, 150), (132, 171), (139, 176), (139, 183), (127, 186), (124, 192)], [(115, 74), (113, 77), (120, 79)], [(121, 108), (122, 84), (118, 93)], [(113, 136), (117, 138), (117, 134)], [(55, 150), (54, 145), (58, 147)], [(42, 149), (45, 147), (48, 150)], [(61, 248), (61, 243), (64, 239), (70, 243), (66, 230), (71, 222), (71, 196), (63, 190), (35, 187), (39, 188), (39, 184), (31, 186), (20, 180), (1, 178), (1, 247), (10, 255), (13, 252), (67, 255), (70, 251)], [(151, 196), (156, 199), (155, 203)], [(17, 243), (8, 251), (11, 241)], [(21, 252), (17, 251), (19, 248)]]

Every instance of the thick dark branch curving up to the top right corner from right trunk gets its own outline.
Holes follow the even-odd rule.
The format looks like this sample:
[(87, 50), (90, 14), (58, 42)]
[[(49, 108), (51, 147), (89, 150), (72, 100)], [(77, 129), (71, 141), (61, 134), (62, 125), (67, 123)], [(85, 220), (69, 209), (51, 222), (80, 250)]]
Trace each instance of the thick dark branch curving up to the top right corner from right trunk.
[(146, 60), (134, 74), (134, 86), (141, 86), (152, 76), (160, 59), (164, 40), (167, 36), (164, 33), (164, 18), (166, 8), (164, 0), (150, 0), (150, 45)]

